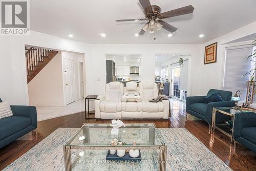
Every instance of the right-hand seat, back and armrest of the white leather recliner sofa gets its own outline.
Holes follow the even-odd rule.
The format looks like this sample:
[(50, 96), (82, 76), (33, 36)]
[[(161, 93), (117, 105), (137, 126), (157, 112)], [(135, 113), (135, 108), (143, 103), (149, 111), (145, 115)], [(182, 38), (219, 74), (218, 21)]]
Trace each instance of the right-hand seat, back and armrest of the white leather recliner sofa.
[(169, 117), (169, 100), (162, 100), (157, 103), (149, 102), (158, 97), (157, 84), (151, 81), (140, 83), (139, 93), (142, 100), (142, 118), (163, 118)]

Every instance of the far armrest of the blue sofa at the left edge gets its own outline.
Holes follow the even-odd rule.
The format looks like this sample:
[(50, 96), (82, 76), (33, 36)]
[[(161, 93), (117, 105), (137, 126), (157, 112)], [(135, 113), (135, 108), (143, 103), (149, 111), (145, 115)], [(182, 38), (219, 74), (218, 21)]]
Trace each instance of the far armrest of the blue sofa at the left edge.
[(11, 105), (13, 116), (25, 116), (31, 119), (32, 125), (37, 127), (37, 113), (35, 106)]

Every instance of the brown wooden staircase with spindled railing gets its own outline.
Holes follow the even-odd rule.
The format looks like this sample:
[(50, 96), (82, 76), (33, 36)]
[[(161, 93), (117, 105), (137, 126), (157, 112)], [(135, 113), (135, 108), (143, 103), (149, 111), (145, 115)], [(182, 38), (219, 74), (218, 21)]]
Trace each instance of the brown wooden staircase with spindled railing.
[[(26, 50), (26, 49), (25, 49)], [(30, 47), (26, 50), (26, 66), (28, 83), (57, 55), (58, 51), (45, 48)]]

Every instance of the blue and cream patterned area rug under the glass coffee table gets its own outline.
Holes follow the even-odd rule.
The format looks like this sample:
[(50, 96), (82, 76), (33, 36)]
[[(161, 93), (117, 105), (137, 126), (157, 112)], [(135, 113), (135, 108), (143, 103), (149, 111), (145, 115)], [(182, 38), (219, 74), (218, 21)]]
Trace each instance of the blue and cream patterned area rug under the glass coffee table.
[[(65, 170), (62, 145), (78, 129), (59, 128), (31, 148), (22, 157), (18, 158), (4, 170)], [(214, 153), (203, 145), (196, 137), (184, 128), (157, 129), (167, 145), (166, 170), (231, 170)], [(90, 158), (104, 160), (106, 152), (87, 152)], [(72, 153), (74, 159), (78, 152)], [(84, 158), (87, 157), (84, 155)], [(154, 155), (142, 154), (150, 160), (155, 160)], [(73, 170), (156, 170), (157, 164), (138, 163), (84, 163), (77, 164)]]

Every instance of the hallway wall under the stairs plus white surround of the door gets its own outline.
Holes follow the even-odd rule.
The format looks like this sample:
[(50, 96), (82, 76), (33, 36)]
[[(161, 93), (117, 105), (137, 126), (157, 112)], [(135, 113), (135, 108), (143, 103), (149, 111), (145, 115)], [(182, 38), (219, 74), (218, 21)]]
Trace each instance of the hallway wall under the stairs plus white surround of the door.
[(74, 61), (75, 100), (80, 94), (79, 62), (83, 61), (81, 53), (59, 52), (54, 58), (28, 83), (29, 105), (35, 106), (65, 106), (66, 83), (64, 59)]

